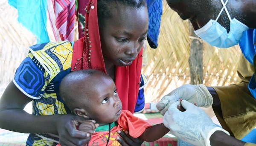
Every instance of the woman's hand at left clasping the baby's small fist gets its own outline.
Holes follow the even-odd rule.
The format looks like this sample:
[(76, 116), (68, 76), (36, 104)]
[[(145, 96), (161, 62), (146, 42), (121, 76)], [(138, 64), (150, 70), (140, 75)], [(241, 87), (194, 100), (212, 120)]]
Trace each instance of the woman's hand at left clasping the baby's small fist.
[[(90, 121), (88, 118), (71, 114), (59, 116), (57, 131), (61, 146), (85, 146), (91, 138), (90, 134), (98, 126), (98, 124), (95, 125), (95, 121)], [(76, 129), (80, 124), (83, 124), (84, 128), (86, 127), (86, 132)]]

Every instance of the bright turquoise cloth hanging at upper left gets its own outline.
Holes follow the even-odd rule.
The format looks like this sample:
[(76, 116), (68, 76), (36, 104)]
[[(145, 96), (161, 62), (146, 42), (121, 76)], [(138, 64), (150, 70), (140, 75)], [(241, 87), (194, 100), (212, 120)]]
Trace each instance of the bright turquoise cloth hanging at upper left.
[(18, 22), (35, 35), (37, 43), (49, 42), (47, 0), (8, 0), (18, 11)]

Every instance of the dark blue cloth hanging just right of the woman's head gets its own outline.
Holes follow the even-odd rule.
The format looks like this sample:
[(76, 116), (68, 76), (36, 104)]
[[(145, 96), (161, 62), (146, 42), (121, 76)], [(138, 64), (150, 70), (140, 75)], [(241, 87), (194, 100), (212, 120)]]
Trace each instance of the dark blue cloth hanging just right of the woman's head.
[(160, 33), (160, 23), (163, 14), (162, 0), (147, 0), (148, 6), (148, 44), (151, 48), (157, 48), (157, 40)]

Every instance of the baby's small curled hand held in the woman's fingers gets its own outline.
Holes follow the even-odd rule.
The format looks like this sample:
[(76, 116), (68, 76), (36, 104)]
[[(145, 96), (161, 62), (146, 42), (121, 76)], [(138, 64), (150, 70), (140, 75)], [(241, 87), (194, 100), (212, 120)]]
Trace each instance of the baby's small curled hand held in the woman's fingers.
[(84, 123), (81, 123), (78, 127), (79, 131), (87, 132), (92, 136), (95, 133), (96, 127), (99, 126), (99, 124), (95, 124), (96, 122), (94, 120), (86, 121)]

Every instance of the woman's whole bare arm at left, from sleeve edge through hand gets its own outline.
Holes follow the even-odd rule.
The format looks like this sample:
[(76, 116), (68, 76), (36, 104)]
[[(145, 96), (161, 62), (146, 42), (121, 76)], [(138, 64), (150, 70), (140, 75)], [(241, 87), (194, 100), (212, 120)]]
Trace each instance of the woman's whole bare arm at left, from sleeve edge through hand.
[[(71, 114), (31, 115), (23, 110), (30, 101), (32, 98), (23, 94), (11, 81), (0, 98), (0, 127), (21, 133), (58, 134), (61, 146), (85, 146), (90, 140), (89, 133), (76, 129), (89, 118)], [(91, 129), (95, 129), (93, 122), (90, 123)]]

